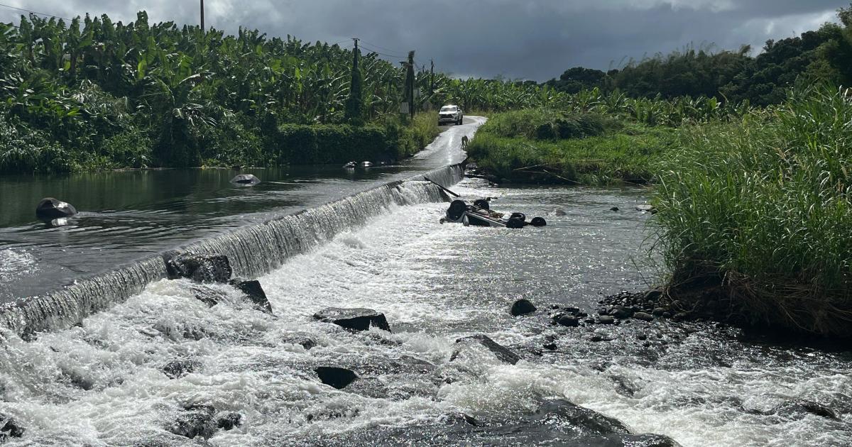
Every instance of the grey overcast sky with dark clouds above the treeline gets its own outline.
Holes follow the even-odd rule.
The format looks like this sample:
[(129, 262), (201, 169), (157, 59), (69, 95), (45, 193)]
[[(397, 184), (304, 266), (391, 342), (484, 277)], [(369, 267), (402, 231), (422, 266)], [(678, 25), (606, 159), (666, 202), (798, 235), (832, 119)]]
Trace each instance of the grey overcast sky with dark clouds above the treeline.
[[(692, 43), (756, 50), (770, 38), (815, 30), (850, 0), (206, 0), (205, 21), (268, 36), (341, 42), (366, 49), (409, 49), (416, 60), (459, 77), (558, 77), (572, 66), (606, 70), (629, 58), (668, 53)], [(0, 0), (5, 5), (72, 17), (89, 12), (113, 21), (198, 23), (199, 0)], [(20, 11), (0, 7), (0, 20)], [(26, 13), (25, 13), (26, 14)]]

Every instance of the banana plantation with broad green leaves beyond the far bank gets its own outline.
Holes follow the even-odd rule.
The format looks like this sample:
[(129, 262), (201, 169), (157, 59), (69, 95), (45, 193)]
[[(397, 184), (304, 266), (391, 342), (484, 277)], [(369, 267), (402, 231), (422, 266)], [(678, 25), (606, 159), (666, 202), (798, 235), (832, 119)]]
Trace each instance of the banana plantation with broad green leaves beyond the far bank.
[[(291, 140), (281, 132), (294, 125), (349, 126), (356, 136), (369, 128), (366, 135), (380, 135), (380, 146), (399, 156), (434, 136), (424, 124), (432, 117), (418, 125), (400, 116), (406, 66), (379, 54), (360, 55), (360, 101), (347, 112), (353, 62), (354, 50), (338, 45), (151, 24), (145, 12), (127, 24), (106, 15), (70, 23), (22, 16), (18, 26), (0, 24), (0, 171), (289, 163), (302, 158), (276, 145)], [(679, 125), (749, 108), (597, 89), (569, 95), (425, 71), (415, 86), (418, 111), (448, 102), (480, 112), (551, 107)], [(378, 143), (352, 144), (357, 152)]]

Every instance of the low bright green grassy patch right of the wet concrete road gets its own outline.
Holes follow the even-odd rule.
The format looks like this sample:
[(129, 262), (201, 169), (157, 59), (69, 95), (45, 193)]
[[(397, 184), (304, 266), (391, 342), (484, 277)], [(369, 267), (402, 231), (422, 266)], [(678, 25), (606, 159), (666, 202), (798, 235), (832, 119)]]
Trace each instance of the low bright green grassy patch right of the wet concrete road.
[(661, 154), (676, 145), (676, 129), (530, 109), (495, 114), (470, 142), (468, 154), (502, 181), (644, 184), (653, 179)]

